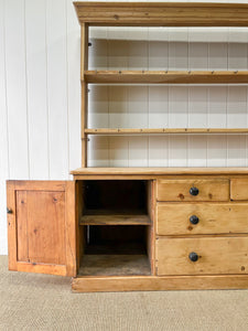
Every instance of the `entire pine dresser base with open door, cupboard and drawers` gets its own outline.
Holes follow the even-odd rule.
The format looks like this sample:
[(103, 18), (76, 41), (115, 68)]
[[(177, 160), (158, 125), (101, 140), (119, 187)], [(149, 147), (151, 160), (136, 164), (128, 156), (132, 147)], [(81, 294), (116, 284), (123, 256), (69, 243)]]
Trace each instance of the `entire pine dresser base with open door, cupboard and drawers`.
[(247, 169), (94, 171), (8, 181), (10, 270), (74, 277), (73, 292), (248, 289)]

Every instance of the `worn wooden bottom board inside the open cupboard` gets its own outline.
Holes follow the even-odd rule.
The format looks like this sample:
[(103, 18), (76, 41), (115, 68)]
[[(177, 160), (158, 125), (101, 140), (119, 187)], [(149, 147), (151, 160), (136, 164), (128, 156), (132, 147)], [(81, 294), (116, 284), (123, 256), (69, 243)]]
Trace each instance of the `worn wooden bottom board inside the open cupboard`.
[(151, 275), (147, 255), (84, 255), (78, 276)]

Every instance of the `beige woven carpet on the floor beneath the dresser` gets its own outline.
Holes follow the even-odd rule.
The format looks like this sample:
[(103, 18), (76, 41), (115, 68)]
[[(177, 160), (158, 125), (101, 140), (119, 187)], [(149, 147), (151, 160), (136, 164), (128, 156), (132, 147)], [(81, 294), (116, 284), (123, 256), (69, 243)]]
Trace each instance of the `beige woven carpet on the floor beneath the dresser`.
[(69, 282), (0, 257), (0, 330), (248, 330), (248, 290), (72, 293)]

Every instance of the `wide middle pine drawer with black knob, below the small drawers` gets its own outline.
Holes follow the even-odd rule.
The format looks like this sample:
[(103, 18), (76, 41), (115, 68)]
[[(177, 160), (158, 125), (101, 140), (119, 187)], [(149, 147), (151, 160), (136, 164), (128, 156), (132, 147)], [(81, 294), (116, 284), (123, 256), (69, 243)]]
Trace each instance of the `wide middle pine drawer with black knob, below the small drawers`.
[(159, 235), (248, 233), (248, 203), (157, 203)]

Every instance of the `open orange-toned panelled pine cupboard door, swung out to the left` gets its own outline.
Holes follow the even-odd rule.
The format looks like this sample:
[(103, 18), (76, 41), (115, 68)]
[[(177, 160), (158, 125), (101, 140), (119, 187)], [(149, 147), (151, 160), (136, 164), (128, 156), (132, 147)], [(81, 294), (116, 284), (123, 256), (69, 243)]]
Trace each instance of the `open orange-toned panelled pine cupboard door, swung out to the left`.
[(8, 181), (9, 269), (76, 276), (75, 182)]

